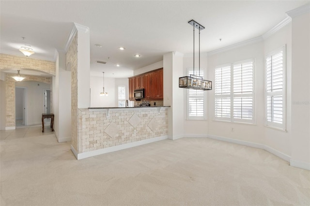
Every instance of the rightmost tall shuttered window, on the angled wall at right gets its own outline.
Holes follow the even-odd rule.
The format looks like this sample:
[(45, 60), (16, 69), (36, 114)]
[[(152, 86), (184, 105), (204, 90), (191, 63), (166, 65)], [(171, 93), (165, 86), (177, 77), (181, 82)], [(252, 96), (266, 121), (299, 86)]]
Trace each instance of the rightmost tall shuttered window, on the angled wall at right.
[(285, 46), (266, 55), (265, 124), (285, 130)]

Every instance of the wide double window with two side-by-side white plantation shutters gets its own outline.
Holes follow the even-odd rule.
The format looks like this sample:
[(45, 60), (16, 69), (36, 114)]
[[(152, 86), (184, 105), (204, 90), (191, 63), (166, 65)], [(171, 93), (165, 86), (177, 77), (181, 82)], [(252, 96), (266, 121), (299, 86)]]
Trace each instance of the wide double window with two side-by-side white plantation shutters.
[(254, 123), (254, 59), (215, 68), (215, 119)]

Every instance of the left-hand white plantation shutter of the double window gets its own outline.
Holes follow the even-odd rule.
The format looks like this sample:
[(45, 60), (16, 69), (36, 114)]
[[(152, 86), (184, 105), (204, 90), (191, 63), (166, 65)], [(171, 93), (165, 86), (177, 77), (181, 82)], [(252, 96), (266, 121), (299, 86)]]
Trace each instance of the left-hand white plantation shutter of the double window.
[(231, 118), (231, 66), (215, 69), (215, 118)]

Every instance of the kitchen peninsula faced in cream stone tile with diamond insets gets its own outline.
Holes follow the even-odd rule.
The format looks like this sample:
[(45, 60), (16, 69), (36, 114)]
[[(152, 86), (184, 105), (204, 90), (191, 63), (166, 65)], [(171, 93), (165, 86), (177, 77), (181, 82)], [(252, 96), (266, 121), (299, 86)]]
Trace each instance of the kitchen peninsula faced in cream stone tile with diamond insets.
[(78, 109), (77, 159), (168, 138), (168, 108), (104, 107)]

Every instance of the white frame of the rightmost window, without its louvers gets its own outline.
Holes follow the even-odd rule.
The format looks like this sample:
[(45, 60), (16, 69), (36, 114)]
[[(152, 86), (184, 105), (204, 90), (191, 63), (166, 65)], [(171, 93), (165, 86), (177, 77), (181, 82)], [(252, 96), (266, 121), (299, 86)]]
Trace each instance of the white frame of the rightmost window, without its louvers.
[[(279, 52), (283, 52), (283, 77), (282, 77), (282, 91), (274, 91), (274, 92), (267, 92), (267, 58), (274, 56), (278, 54)], [(265, 55), (264, 59), (264, 88), (265, 88), (265, 126), (279, 129), (282, 131), (286, 131), (286, 44), (283, 46), (279, 47), (278, 49), (269, 52), (267, 55)], [(282, 113), (282, 124), (273, 122), (273, 121), (268, 121), (267, 120), (267, 97), (268, 96), (279, 96), (282, 95), (282, 108), (283, 108), (283, 113)]]

